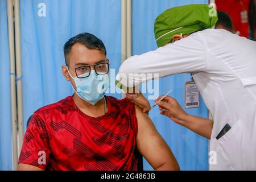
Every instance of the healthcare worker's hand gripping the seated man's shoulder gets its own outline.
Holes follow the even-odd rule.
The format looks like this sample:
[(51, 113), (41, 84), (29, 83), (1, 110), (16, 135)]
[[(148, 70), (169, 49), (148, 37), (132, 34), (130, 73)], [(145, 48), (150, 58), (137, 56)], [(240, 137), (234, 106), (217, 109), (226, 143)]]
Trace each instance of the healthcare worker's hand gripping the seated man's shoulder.
[(129, 101), (139, 106), (142, 109), (143, 113), (148, 114), (148, 111), (150, 110), (151, 106), (146, 97), (144, 97), (142, 93), (126, 94), (126, 97)]

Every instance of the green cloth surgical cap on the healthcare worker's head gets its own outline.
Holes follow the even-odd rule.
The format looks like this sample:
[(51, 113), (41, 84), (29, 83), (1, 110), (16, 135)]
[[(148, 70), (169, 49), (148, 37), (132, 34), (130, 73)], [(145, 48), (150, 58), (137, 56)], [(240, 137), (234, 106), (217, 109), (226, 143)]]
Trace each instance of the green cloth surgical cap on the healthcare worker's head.
[(155, 39), (158, 47), (170, 43), (175, 34), (191, 34), (212, 28), (217, 11), (210, 5), (186, 5), (164, 11), (155, 19)]

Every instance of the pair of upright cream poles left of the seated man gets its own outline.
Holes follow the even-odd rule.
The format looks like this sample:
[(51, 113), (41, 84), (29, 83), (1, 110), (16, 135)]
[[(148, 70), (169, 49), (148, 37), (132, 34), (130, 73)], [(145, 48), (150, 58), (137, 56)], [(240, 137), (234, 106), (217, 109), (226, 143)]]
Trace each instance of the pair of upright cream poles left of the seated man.
[(19, 0), (7, 0), (10, 89), (11, 89), (11, 138), (13, 169), (18, 169), (18, 155), (23, 143), (22, 67), (20, 52)]

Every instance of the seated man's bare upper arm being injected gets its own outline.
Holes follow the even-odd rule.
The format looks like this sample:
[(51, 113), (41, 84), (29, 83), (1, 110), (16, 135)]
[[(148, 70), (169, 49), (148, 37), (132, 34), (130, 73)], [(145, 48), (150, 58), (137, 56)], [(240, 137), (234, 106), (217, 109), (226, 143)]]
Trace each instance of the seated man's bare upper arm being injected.
[(138, 121), (137, 148), (154, 169), (177, 170), (179, 164), (147, 114), (135, 106)]

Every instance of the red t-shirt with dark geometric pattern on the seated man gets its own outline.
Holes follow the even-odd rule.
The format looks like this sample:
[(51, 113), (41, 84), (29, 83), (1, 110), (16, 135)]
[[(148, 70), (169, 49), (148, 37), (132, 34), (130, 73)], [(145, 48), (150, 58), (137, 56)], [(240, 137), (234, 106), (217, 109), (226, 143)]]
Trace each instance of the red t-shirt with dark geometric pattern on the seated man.
[(72, 96), (35, 111), (19, 163), (47, 170), (137, 170), (134, 104), (106, 101), (108, 112), (97, 118), (82, 113)]

